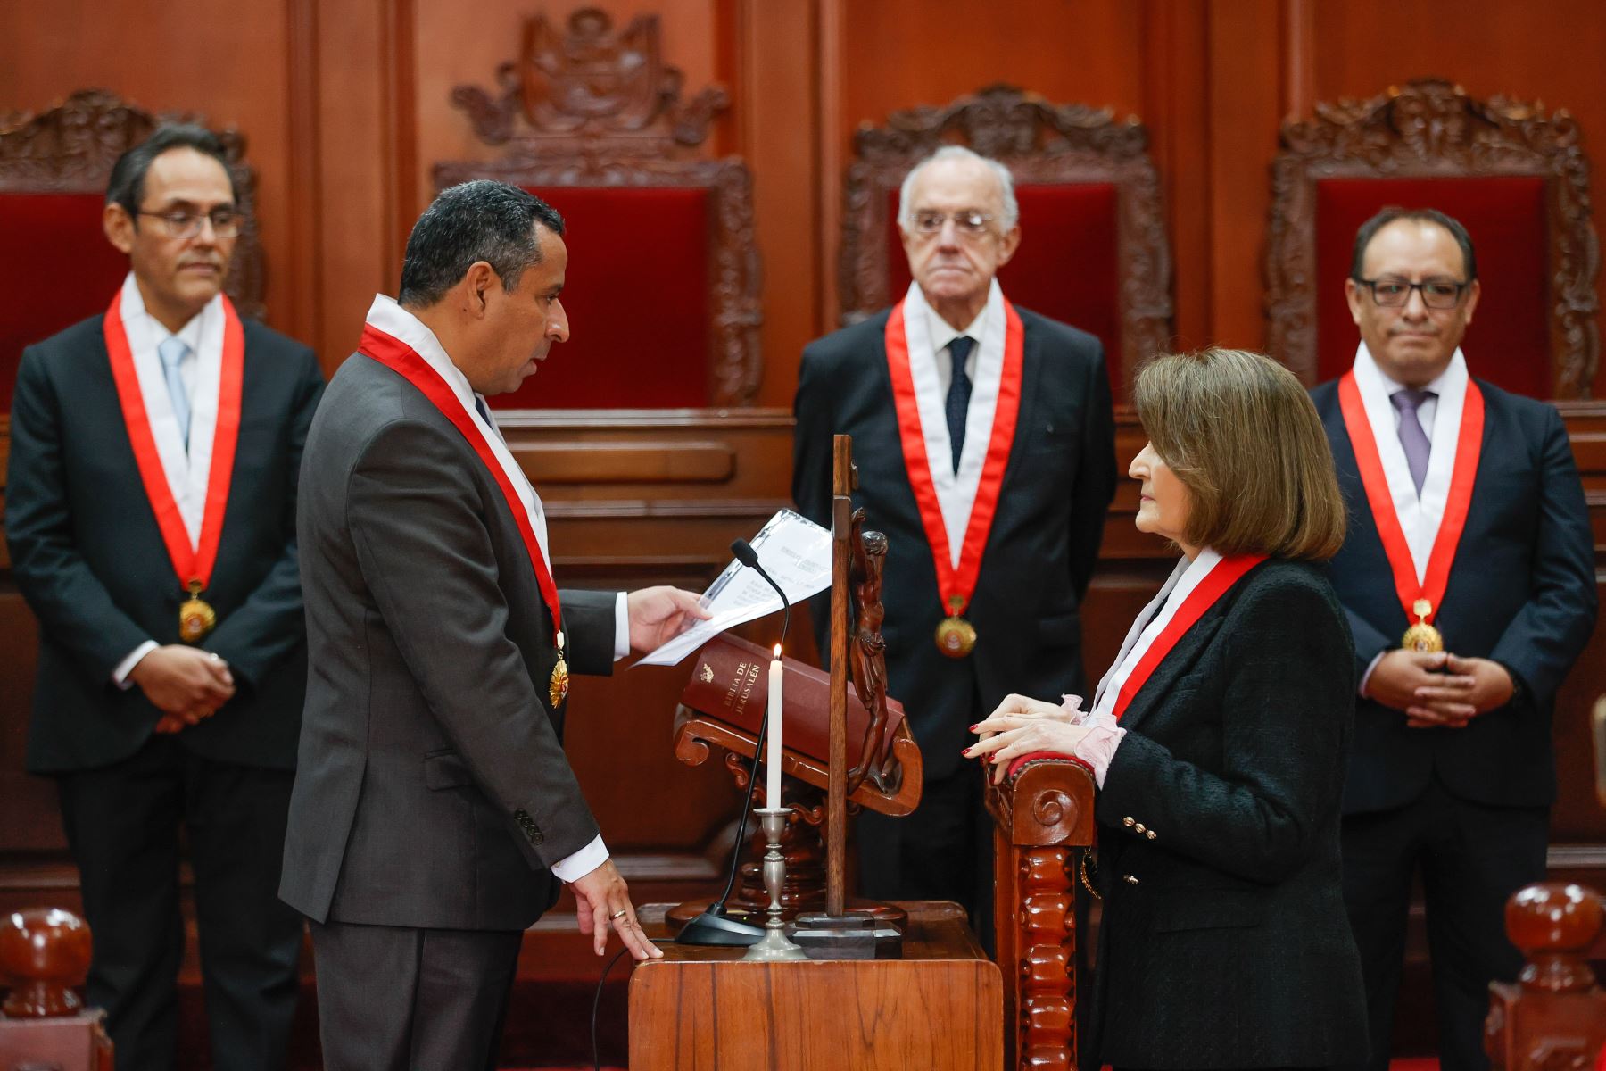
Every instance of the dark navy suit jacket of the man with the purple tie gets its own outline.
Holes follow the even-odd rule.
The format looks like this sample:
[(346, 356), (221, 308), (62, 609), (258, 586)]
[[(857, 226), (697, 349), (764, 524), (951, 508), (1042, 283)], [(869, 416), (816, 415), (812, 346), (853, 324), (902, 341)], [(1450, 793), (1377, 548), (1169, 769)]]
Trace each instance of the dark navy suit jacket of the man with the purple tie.
[[(1548, 806), (1556, 795), (1550, 716), (1572, 662), (1595, 628), (1595, 548), (1584, 488), (1556, 408), (1478, 381), (1484, 440), (1450, 586), (1434, 618), (1458, 655), (1505, 665), (1527, 698), (1479, 715), (1465, 729), (1407, 729), (1405, 715), (1372, 700), (1355, 710), (1344, 811), (1381, 811), (1426, 790), (1437, 771), (1455, 795), (1495, 806)], [(1328, 567), (1355, 636), (1355, 684), (1410, 621), (1394, 591), (1338, 384), (1310, 393), (1349, 504), (1344, 549)]]

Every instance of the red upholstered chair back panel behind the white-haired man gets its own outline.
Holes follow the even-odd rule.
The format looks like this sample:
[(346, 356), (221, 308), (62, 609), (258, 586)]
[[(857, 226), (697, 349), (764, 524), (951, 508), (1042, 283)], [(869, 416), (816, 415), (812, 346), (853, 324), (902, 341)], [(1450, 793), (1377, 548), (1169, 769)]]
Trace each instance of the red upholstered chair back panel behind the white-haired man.
[[(1116, 198), (1110, 183), (1015, 186), (1020, 249), (999, 271), (999, 286), (1013, 303), (1099, 336), (1113, 390), (1123, 374)], [(888, 206), (888, 295), (903, 300), (909, 259), (898, 231), (896, 189)]]

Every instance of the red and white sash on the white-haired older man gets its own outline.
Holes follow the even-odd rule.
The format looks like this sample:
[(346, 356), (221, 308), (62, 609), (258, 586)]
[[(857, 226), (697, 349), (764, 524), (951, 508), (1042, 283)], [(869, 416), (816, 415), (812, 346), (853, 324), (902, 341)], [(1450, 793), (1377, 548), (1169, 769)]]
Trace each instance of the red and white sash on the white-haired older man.
[[(1002, 369), (997, 379), (997, 400), (993, 406), (991, 429), (986, 430), (986, 450), (981, 454), (980, 474), (976, 474), (975, 498), (970, 504), (968, 519), (964, 525), (964, 540), (954, 552), (949, 540), (949, 523), (944, 519), (943, 499), (931, 475), (931, 459), (928, 451), (933, 442), (948, 442), (948, 427), (925, 427), (920, 417), (920, 403), (915, 390), (915, 371), (911, 364), (911, 336), (925, 339), (925, 324), (915, 320), (915, 313), (923, 315), (923, 305), (917, 292), (911, 287), (911, 295), (893, 307), (887, 320), (887, 368), (891, 376), (893, 405), (898, 413), (898, 435), (903, 443), (904, 467), (909, 472), (909, 487), (914, 491), (915, 506), (920, 511), (920, 523), (925, 528), (927, 543), (931, 546), (931, 564), (936, 567), (936, 588), (943, 601), (944, 613), (964, 615), (970, 605), (970, 597), (976, 589), (976, 576), (981, 572), (981, 552), (986, 549), (988, 535), (993, 530), (993, 517), (997, 514), (999, 491), (1004, 487), (1004, 469), (1009, 466), (1010, 446), (1015, 442), (1015, 421), (1020, 416), (1021, 364), (1025, 358), (1025, 340), (1020, 315), (1015, 307), (997, 295), (1004, 320)], [(983, 340), (983, 347), (986, 340)], [(983, 393), (981, 361), (978, 358), (976, 390)], [(935, 374), (935, 373), (933, 373)], [(988, 381), (991, 382), (991, 379)], [(980, 401), (980, 397), (973, 400)], [(978, 406), (980, 408), (980, 406)], [(967, 421), (965, 454), (973, 458), (973, 442), (980, 442), (983, 429)], [(972, 438), (972, 434), (976, 438)], [(980, 446), (975, 446), (980, 451)], [(951, 467), (951, 456), (938, 458), (938, 464)], [(965, 475), (967, 464), (960, 461), (960, 475)], [(954, 602), (957, 599), (957, 604)], [(957, 610), (954, 609), (957, 605)]]

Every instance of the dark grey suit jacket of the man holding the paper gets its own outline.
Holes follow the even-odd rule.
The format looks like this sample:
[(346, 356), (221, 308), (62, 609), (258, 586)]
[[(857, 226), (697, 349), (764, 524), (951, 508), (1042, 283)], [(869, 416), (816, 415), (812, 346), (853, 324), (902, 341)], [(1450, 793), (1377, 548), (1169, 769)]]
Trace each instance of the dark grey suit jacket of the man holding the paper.
[[(307, 440), (313, 673), (283, 899), (318, 922), (522, 930), (597, 825), (562, 748), (552, 625), (501, 488), (406, 379), (357, 355)], [(575, 673), (613, 593), (564, 593)]]

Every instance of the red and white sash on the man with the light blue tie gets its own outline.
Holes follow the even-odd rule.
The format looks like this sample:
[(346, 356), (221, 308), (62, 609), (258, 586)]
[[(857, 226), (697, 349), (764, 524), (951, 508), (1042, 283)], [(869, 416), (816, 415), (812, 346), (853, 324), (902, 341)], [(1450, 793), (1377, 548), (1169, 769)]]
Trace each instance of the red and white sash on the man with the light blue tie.
[[(140, 469), (140, 482), (145, 485), (145, 496), (156, 514), (156, 525), (167, 546), (167, 557), (172, 560), (173, 575), (180, 589), (193, 583), (206, 591), (212, 584), (212, 568), (217, 565), (218, 544), (223, 540), (223, 515), (228, 511), (228, 488), (234, 474), (234, 448), (239, 443), (239, 400), (246, 369), (246, 336), (239, 324), (239, 315), (226, 295), (218, 295), (223, 310), (222, 337), (222, 371), (217, 385), (217, 422), (210, 435), (210, 461), (206, 477), (206, 504), (201, 512), (199, 531), (191, 538), (191, 530), (185, 523), (178, 499), (173, 495), (172, 478), (178, 472), (164, 467), (156, 435), (151, 430), (151, 413), (146, 406), (145, 393), (140, 389), (140, 373), (135, 368), (133, 348), (128, 344), (128, 329), (124, 323), (124, 291), (111, 299), (106, 310), (103, 332), (106, 336), (106, 355), (111, 361), (112, 382), (117, 387), (117, 401), (122, 406), (122, 421), (128, 429), (128, 445), (133, 448), (133, 459)], [(206, 363), (202, 361), (204, 368)], [(201, 413), (201, 393), (207, 389), (206, 377), (198, 376), (194, 413)], [(198, 429), (196, 429), (198, 430)], [(198, 435), (191, 443), (204, 448), (204, 437)], [(178, 466), (181, 469), (181, 466)]]

